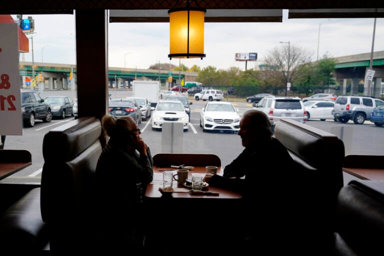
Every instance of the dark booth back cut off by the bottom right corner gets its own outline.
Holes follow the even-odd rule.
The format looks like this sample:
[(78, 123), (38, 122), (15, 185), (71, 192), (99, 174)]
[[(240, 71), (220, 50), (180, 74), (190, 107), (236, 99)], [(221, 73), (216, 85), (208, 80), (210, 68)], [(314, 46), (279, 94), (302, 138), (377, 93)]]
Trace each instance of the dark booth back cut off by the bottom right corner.
[(384, 181), (349, 181), (337, 196), (334, 255), (380, 255), (383, 239)]

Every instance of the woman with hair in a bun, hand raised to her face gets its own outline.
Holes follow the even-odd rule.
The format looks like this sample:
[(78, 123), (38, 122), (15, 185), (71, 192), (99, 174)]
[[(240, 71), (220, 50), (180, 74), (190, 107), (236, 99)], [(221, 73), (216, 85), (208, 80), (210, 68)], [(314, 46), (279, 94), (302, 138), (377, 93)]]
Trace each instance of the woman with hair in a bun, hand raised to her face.
[(101, 249), (143, 248), (146, 219), (142, 198), (153, 179), (152, 156), (131, 116), (101, 119), (109, 136), (96, 166), (96, 208)]

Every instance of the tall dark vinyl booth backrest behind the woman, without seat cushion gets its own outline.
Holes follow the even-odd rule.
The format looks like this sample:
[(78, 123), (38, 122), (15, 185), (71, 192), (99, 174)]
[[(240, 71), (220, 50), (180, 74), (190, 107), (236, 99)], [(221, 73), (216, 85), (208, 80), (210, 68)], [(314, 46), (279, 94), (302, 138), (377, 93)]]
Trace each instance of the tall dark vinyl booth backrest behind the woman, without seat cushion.
[(94, 214), (93, 178), (101, 153), (100, 134), (99, 119), (81, 117), (44, 136), (40, 207), (51, 251), (86, 246)]

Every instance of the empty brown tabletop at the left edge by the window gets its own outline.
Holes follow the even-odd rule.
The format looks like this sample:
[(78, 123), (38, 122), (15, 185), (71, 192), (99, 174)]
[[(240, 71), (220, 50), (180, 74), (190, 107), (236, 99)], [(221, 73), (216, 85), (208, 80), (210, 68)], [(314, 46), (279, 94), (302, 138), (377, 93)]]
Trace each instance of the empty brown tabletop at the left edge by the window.
[(32, 164), (27, 150), (0, 149), (0, 180)]

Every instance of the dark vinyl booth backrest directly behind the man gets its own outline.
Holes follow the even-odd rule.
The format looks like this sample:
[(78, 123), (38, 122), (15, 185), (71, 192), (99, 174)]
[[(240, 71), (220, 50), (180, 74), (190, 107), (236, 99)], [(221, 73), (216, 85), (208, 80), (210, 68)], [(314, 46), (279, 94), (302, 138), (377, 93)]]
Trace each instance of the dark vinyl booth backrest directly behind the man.
[(329, 255), (337, 194), (343, 186), (344, 144), (334, 134), (283, 118), (276, 122), (274, 136), (295, 162), (293, 169), (286, 170), (292, 177), (290, 189), (295, 192), (292, 208), (287, 210), (296, 216), (295, 234), (304, 250), (301, 254)]

